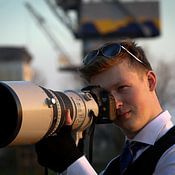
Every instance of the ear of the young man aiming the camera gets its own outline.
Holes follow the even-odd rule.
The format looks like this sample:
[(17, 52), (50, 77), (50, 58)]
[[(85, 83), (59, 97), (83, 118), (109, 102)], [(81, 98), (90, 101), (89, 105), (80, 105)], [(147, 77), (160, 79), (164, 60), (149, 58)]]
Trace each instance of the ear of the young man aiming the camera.
[(157, 86), (157, 77), (156, 74), (153, 71), (147, 72), (147, 79), (149, 84), (150, 91), (154, 91)]

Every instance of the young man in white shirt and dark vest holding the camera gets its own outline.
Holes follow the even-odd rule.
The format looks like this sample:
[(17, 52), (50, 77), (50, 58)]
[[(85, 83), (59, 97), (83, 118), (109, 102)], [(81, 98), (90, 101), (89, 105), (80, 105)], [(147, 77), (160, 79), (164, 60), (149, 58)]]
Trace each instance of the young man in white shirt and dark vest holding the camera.
[[(172, 175), (175, 172), (175, 129), (170, 114), (159, 103), (157, 78), (142, 48), (130, 40), (107, 43), (87, 54), (80, 72), (90, 85), (99, 85), (114, 96), (114, 123), (126, 135), (127, 145), (141, 145), (137, 152), (129, 147), (127, 154), (123, 152), (114, 158), (101, 174)], [(71, 124), (70, 119), (67, 113), (67, 125)], [(54, 171), (67, 169), (70, 175), (95, 175), (74, 141), (67, 142), (71, 148), (66, 148), (66, 140), (70, 141), (71, 137), (70, 132), (64, 130), (63, 134), (58, 133), (58, 138), (38, 143), (39, 163)], [(60, 155), (60, 152), (68, 154)], [(130, 158), (128, 163), (128, 158), (123, 156), (130, 152), (132, 160)], [(66, 161), (62, 162), (63, 159)]]

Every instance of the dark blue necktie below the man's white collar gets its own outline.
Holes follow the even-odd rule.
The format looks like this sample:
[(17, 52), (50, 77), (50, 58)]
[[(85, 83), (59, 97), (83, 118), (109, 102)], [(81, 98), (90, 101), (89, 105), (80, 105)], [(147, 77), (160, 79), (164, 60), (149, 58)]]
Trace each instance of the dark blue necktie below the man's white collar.
[(132, 163), (134, 156), (136, 155), (137, 151), (139, 149), (142, 149), (147, 144), (141, 143), (141, 142), (129, 142), (126, 141), (125, 147), (123, 149), (123, 152), (120, 156), (120, 172), (121, 175), (124, 173), (124, 171), (127, 169), (127, 167)]

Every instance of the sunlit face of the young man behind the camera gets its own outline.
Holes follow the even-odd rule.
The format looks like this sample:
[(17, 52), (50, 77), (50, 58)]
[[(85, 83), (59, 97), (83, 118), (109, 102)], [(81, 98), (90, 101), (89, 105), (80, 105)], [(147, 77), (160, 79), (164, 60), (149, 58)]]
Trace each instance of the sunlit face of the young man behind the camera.
[(116, 101), (116, 120), (128, 137), (133, 137), (152, 120), (148, 74), (138, 75), (126, 62), (114, 65), (91, 78), (92, 85), (100, 85), (113, 94)]

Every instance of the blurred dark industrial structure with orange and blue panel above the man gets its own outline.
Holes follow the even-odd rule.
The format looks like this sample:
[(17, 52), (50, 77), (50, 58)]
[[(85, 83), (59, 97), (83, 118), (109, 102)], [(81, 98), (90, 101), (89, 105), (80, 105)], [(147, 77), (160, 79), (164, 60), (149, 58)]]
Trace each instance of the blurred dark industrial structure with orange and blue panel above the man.
[[(159, 1), (156, 0), (45, 1), (75, 39), (82, 41), (83, 55), (109, 40), (152, 38), (161, 34)], [(72, 71), (74, 68), (76, 66), (70, 65), (62, 70)]]

